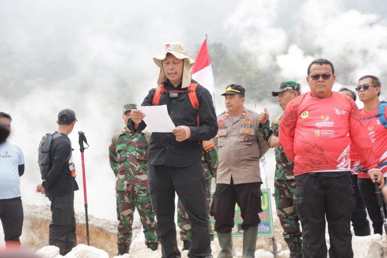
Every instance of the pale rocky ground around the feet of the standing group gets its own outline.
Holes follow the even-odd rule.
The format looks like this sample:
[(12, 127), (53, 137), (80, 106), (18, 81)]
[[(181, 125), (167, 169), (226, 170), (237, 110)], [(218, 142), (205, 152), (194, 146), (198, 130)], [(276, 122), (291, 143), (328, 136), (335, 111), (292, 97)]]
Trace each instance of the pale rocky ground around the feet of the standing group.
[[(50, 223), (50, 209), (48, 206), (28, 206), (25, 207), (25, 224), (23, 235), (25, 241), (23, 247), (31, 252), (36, 252), (41, 258), (59, 258), (59, 250), (55, 246), (47, 246), (48, 244), (48, 225)], [(84, 214), (77, 214), (77, 236), (78, 246), (66, 256), (67, 258), (108, 258), (116, 257), (116, 221), (97, 219), (89, 216), (89, 231), (90, 245), (86, 243), (86, 225)], [(274, 216), (274, 232), (277, 247), (277, 253), (273, 254), (273, 245), (271, 238), (260, 237), (256, 242), (255, 257), (260, 258), (285, 258), (289, 257), (289, 250), (282, 237), (282, 228), (279, 220)], [(178, 228), (177, 228), (178, 230)], [(329, 246), (329, 235), (326, 235), (327, 245)], [(133, 226), (133, 242), (129, 254), (118, 257), (132, 258), (159, 258), (161, 257), (161, 248), (157, 251), (152, 251), (146, 248), (144, 243), (145, 238), (142, 233), (140, 221), (135, 221)], [(234, 241), (234, 256), (242, 255), (242, 238), (235, 237)], [(178, 240), (181, 249), (182, 242)], [(353, 237), (352, 245), (355, 258), (387, 258), (387, 237), (383, 235), (371, 235), (367, 237)], [(214, 257), (217, 257), (220, 251), (217, 240), (211, 243)], [(187, 251), (181, 253), (182, 257), (187, 257)]]

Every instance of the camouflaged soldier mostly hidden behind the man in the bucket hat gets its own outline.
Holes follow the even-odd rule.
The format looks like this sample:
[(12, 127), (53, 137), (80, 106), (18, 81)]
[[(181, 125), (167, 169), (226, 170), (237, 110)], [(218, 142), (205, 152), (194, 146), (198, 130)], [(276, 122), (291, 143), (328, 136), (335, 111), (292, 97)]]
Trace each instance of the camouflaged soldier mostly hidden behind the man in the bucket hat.
[[(216, 178), (216, 169), (218, 167), (218, 154), (214, 149), (212, 140), (203, 141), (203, 155), (202, 165), (204, 173), (206, 174), (207, 181), (207, 209), (208, 209), (208, 220), (210, 227), (211, 241), (214, 240), (214, 232), (211, 227), (211, 181), (212, 178)], [(183, 241), (183, 250), (188, 250), (191, 241), (191, 224), (189, 223), (188, 214), (185, 212), (180, 200), (177, 202), (177, 225), (180, 228), (180, 239)], [(207, 256), (209, 257), (209, 256)]]

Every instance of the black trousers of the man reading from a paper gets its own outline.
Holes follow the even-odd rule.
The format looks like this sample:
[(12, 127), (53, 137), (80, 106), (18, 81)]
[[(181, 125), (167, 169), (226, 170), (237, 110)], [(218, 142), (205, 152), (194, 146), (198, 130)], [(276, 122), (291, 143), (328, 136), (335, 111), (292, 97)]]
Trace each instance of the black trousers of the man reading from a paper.
[(180, 257), (177, 248), (175, 192), (191, 223), (189, 257), (206, 257), (210, 252), (207, 221), (206, 178), (201, 163), (189, 167), (148, 164), (148, 185), (152, 208), (157, 219), (157, 238), (162, 257)]

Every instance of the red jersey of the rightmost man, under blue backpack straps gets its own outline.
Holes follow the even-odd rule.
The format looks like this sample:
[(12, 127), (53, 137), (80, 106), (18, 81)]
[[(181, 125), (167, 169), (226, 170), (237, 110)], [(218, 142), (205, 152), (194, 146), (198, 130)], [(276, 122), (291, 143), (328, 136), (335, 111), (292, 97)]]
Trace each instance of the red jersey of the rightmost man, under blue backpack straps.
[[(377, 106), (371, 111), (366, 112), (364, 108), (360, 110), (362, 118), (374, 116), (377, 114)], [(384, 117), (387, 117), (387, 108), (384, 109)], [(385, 128), (379, 121), (378, 117), (372, 117), (369, 119), (363, 120), (365, 127), (368, 130), (368, 135), (371, 138), (372, 149), (375, 153), (377, 163), (381, 164), (387, 161), (387, 128)], [(363, 162), (361, 162), (361, 167), (363, 167)], [(387, 175), (387, 165), (380, 168), (380, 171)], [(359, 178), (368, 178), (364, 173), (359, 173)]]

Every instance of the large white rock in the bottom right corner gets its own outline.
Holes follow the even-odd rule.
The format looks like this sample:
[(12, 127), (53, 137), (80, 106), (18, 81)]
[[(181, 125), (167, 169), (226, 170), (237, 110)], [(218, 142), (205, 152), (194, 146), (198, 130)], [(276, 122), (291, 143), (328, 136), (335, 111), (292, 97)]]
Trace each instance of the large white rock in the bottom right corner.
[(380, 258), (383, 254), (381, 235), (353, 236), (352, 249), (354, 258)]

